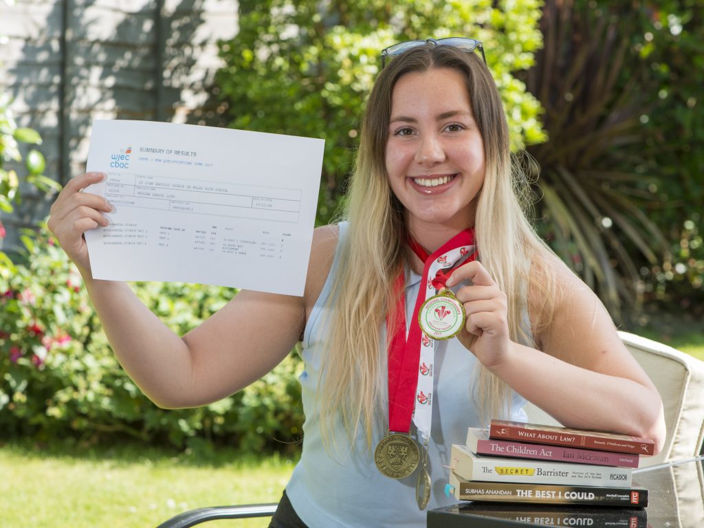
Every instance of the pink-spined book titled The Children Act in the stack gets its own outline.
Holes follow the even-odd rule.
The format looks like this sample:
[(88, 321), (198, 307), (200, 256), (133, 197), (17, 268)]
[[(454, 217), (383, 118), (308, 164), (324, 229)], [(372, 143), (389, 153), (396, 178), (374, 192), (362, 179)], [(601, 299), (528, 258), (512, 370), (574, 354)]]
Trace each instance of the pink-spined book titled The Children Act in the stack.
[(548, 444), (528, 444), (489, 438), (488, 429), (470, 427), (467, 430), (467, 447), (479, 455), (534, 458), (536, 460), (558, 460), (577, 464), (610, 465), (617, 467), (638, 467), (639, 455), (579, 449)]

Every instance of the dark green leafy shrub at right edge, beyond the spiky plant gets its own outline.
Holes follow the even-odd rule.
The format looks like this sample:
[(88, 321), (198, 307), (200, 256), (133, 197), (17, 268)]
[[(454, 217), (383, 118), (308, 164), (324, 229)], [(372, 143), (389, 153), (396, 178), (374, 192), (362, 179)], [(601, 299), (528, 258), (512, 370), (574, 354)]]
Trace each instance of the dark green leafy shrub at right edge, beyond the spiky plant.
[[(672, 261), (644, 266), (650, 301), (704, 317), (704, 4), (648, 1), (632, 37), (644, 94), (645, 149), (631, 149), (648, 217), (665, 232)], [(643, 175), (654, 175), (646, 179)]]

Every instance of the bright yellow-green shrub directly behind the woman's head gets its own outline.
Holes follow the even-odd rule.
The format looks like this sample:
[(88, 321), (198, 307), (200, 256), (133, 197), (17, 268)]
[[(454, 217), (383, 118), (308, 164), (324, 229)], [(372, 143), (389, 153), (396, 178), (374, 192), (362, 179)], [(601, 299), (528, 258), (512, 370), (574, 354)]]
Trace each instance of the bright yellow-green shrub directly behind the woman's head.
[(545, 139), (539, 103), (512, 72), (542, 44), (540, 1), (243, 0), (239, 33), (220, 44), (217, 76), (230, 126), (325, 139), (318, 222), (337, 208), (353, 163), (364, 101), (394, 42), (470, 36), (484, 42), (513, 146)]

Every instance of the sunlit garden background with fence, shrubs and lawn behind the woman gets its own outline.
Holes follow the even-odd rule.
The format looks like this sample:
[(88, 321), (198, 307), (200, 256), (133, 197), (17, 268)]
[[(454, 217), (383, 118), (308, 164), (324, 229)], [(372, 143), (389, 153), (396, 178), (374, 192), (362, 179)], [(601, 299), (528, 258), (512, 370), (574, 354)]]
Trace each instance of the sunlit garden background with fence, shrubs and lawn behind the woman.
[[(704, 360), (703, 15), (698, 0), (0, 0), (0, 524), (156, 527), (278, 500), (303, 423), (295, 351), (223, 401), (156, 408), (43, 221), (91, 120), (120, 118), (322, 137), (328, 222), (379, 51), (402, 40), (484, 42), (514, 149), (540, 167), (541, 235), (621, 329)], [(180, 333), (236, 294), (133, 286)]]

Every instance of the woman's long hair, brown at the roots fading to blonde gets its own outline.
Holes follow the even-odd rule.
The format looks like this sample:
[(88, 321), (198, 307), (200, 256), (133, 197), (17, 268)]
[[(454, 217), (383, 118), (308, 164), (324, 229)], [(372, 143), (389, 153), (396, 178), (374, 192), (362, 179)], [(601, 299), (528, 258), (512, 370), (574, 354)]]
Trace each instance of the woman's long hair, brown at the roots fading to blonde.
[[(396, 306), (394, 279), (408, 256), (404, 208), (391, 191), (385, 168), (391, 96), (402, 75), (432, 68), (453, 68), (466, 79), (486, 163), (475, 220), (477, 245), (482, 264), (508, 296), (511, 339), (534, 346), (524, 320), (529, 282), (536, 275), (529, 272), (532, 260), (540, 260), (534, 257), (548, 250), (519, 200), (527, 195), (528, 185), (524, 172), (511, 163), (508, 125), (496, 84), (476, 54), (432, 44), (406, 51), (379, 73), (367, 101), (346, 197), (344, 217), (349, 226), (327, 301), (329, 334), (321, 367), (320, 423), (326, 445), (336, 420), (341, 420), (351, 445), (362, 427), (367, 448), (375, 427), (386, 426), (382, 404), (386, 380), (381, 375), (386, 348), (380, 347), (379, 329)], [(541, 289), (549, 286), (540, 281)], [(510, 393), (486, 368), (478, 370), (473, 394), (486, 421), (505, 413)]]

